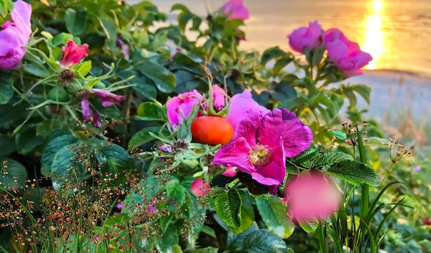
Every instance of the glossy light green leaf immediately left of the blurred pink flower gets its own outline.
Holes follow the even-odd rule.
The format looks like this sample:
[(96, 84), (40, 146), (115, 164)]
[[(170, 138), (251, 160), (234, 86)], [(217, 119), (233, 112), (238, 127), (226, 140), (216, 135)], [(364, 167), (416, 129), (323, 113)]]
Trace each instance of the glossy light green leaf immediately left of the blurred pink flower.
[(293, 234), (295, 224), (287, 219), (286, 207), (279, 197), (271, 195), (268, 200), (255, 199), (255, 201), (257, 210), (259, 210), (260, 216), (262, 216), (262, 220), (270, 232), (283, 239)]

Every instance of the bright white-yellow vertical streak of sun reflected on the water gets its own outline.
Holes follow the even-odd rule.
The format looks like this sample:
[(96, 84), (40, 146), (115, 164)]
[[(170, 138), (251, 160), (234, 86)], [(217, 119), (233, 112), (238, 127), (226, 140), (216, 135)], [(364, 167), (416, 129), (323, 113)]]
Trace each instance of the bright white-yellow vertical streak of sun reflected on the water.
[(381, 21), (383, 17), (383, 1), (373, 0), (368, 3), (368, 16), (366, 17), (366, 28), (364, 43), (361, 50), (371, 54), (372, 61), (366, 69), (376, 69), (379, 67), (379, 58), (385, 52), (383, 32), (381, 31)]

